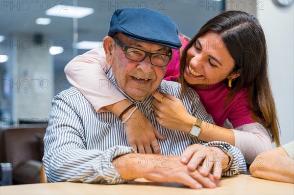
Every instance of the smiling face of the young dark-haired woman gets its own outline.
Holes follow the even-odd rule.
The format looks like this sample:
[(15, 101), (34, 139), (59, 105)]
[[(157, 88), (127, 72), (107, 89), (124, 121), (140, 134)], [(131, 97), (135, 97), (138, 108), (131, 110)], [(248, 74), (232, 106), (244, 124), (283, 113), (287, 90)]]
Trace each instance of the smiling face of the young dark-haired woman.
[[(188, 49), (184, 79), (191, 87), (205, 87), (219, 83), (230, 74), (234, 60), (216, 31), (208, 31)], [(230, 75), (229, 75), (230, 74)]]

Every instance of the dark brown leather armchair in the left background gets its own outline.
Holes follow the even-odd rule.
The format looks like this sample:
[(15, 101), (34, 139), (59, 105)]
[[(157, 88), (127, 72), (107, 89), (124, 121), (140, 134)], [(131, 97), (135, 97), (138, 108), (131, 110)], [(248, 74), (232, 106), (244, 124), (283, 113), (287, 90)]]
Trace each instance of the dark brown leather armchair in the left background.
[(13, 184), (40, 183), (45, 132), (46, 127), (0, 130), (0, 162), (12, 164)]

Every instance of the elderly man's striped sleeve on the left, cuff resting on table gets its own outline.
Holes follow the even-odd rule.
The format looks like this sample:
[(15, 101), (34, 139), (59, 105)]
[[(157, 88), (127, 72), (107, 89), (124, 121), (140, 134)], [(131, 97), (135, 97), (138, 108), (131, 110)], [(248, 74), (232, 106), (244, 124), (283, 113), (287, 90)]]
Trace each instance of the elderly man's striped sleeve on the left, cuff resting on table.
[(135, 152), (134, 149), (114, 146), (106, 151), (87, 150), (85, 139), (83, 122), (70, 101), (62, 95), (55, 96), (44, 137), (43, 164), (49, 181), (105, 184), (127, 182), (116, 171), (112, 160)]

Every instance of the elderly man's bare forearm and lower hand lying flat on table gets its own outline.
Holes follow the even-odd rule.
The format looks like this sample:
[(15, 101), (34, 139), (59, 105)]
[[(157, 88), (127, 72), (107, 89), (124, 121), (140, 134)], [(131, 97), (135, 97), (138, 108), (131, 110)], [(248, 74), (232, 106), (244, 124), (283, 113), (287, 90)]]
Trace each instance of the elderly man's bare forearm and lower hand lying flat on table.
[[(122, 159), (124, 163), (121, 167), (119, 162)], [(126, 159), (128, 159), (127, 166), (125, 166)], [(180, 156), (131, 153), (117, 157), (113, 164), (121, 177), (127, 180), (144, 177), (156, 182), (182, 183), (193, 189), (201, 189), (202, 186), (207, 188), (220, 186), (220, 181), (211, 173), (203, 176), (197, 170), (189, 170), (187, 165), (180, 162)]]

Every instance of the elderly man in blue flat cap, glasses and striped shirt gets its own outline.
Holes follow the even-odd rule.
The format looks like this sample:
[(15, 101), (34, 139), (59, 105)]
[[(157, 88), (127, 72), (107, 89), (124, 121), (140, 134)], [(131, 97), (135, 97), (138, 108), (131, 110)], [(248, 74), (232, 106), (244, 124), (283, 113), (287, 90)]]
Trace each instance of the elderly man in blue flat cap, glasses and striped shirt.
[[(172, 20), (150, 9), (119, 9), (112, 16), (108, 35), (103, 40), (106, 61), (112, 65), (107, 76), (133, 103), (128, 109), (142, 111), (167, 136), (158, 140), (164, 155), (139, 154), (129, 147), (124, 125), (132, 112), (124, 121), (110, 112), (97, 113), (71, 87), (52, 101), (43, 158), (49, 181), (119, 184), (145, 177), (199, 189), (219, 186), (221, 172), (227, 176), (245, 173), (243, 154), (236, 147), (225, 142), (204, 143), (156, 123), (151, 93), (157, 90), (181, 98), (178, 83), (162, 81), (172, 58), (171, 48), (181, 46)], [(181, 99), (192, 115), (213, 123), (194, 90), (188, 88)], [(193, 153), (190, 161), (195, 161), (195, 167), (180, 161), (185, 150)]]

